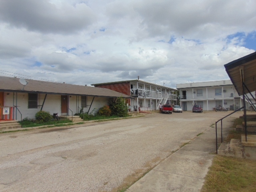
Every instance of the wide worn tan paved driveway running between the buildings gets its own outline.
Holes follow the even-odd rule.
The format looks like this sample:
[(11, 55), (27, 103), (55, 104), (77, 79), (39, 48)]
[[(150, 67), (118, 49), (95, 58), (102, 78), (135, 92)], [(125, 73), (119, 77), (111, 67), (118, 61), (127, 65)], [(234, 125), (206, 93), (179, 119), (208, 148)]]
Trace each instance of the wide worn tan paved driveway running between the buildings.
[(155, 113), (0, 134), (0, 190), (116, 192), (229, 113)]

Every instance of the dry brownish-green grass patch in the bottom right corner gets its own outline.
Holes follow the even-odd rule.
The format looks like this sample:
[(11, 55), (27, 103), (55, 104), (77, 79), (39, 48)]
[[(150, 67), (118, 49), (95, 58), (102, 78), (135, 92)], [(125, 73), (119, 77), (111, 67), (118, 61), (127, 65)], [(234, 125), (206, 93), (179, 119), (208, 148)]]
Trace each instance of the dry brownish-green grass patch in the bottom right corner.
[(201, 192), (252, 192), (256, 189), (256, 161), (215, 156)]

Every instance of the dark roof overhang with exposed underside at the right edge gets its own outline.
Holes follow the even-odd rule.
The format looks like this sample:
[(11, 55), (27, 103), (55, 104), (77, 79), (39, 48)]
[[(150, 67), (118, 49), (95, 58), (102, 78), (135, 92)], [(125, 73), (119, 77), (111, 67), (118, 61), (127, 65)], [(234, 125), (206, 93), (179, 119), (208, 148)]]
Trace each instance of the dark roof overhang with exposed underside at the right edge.
[(256, 90), (256, 52), (229, 62), (224, 67), (239, 96), (243, 94), (241, 70), (243, 70), (244, 84), (249, 90), (245, 90), (245, 94)]

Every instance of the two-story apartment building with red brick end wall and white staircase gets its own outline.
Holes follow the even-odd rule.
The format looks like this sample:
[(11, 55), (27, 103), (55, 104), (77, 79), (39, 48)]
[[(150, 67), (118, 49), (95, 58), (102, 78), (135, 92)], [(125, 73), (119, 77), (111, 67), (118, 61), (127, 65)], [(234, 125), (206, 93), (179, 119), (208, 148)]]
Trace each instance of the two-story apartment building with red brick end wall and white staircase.
[(134, 97), (128, 99), (130, 110), (156, 110), (159, 104), (176, 104), (176, 89), (145, 82), (142, 80), (126, 80), (92, 84), (95, 87), (107, 88)]

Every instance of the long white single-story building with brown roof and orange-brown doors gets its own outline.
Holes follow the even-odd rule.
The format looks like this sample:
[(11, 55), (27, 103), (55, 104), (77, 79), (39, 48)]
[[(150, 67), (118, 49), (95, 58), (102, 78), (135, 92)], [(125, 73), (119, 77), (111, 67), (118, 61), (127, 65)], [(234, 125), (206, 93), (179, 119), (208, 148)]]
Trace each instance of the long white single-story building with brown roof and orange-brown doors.
[(0, 120), (35, 118), (40, 110), (59, 116), (81, 109), (96, 113), (118, 97), (132, 98), (106, 88), (0, 76)]

